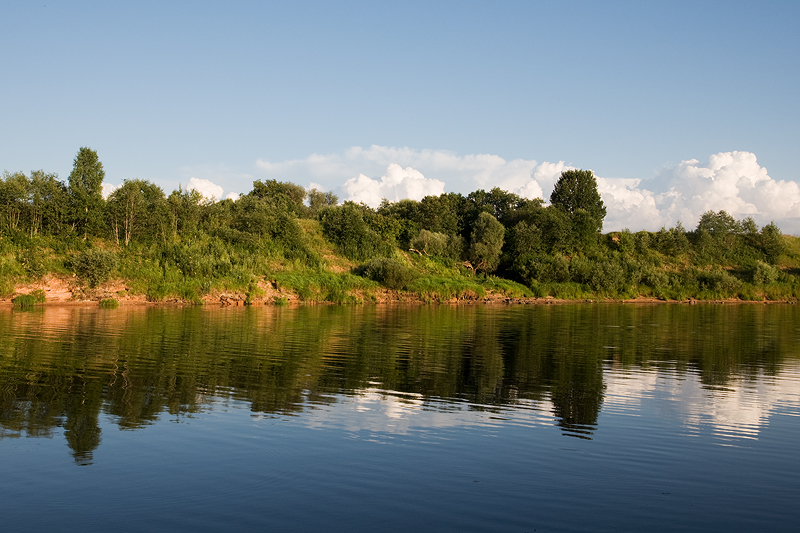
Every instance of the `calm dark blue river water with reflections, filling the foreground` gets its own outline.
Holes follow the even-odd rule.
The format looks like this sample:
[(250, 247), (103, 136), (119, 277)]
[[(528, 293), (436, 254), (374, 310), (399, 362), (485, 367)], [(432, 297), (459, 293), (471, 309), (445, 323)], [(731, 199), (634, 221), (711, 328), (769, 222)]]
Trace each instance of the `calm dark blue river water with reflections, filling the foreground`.
[(797, 531), (800, 308), (0, 310), (3, 531)]

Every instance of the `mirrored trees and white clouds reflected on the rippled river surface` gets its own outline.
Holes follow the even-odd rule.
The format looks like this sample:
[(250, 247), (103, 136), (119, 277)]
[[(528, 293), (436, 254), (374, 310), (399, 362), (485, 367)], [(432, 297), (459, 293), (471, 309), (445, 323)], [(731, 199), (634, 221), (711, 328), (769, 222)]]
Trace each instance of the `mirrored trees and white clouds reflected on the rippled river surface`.
[[(402, 432), (554, 422), (592, 438), (601, 409), (674, 411), (687, 432), (754, 437), (796, 405), (794, 306), (559, 305), (0, 312), (0, 438), (63, 434), (78, 464), (121, 429), (230, 397), (311, 426)], [(668, 401), (667, 401), (668, 400)], [(356, 421), (357, 420), (357, 421)]]

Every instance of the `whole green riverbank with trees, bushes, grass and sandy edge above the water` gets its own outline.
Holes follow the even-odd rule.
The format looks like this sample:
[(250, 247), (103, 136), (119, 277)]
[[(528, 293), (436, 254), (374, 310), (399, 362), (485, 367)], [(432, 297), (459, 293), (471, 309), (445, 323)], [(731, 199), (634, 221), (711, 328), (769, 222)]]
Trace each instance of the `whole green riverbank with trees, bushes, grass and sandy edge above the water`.
[(43, 279), (76, 298), (195, 303), (800, 296), (800, 239), (774, 223), (710, 211), (692, 230), (603, 234), (591, 171), (562, 173), (549, 205), (494, 188), (377, 209), (276, 180), (236, 201), (145, 180), (104, 199), (103, 178), (88, 148), (66, 183), (3, 174), (0, 298)]

